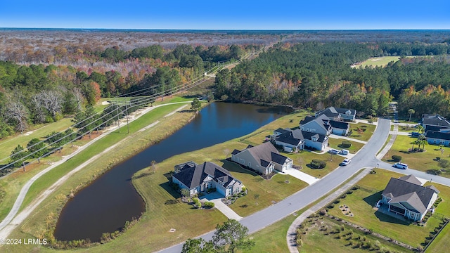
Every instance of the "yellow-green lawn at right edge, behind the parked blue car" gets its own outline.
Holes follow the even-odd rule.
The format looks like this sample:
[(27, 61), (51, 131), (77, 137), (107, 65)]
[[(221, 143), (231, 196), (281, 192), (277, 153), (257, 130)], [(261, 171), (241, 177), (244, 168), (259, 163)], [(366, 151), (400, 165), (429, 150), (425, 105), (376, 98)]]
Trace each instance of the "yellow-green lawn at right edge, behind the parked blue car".
[[(394, 145), (383, 157), (383, 161), (391, 162), (392, 155), (400, 155), (402, 157), (401, 162), (408, 164), (409, 167), (420, 171), (428, 171), (428, 169), (441, 169), (438, 162), (434, 160), (436, 157), (450, 160), (449, 147), (443, 147), (444, 153), (442, 154), (437, 145), (425, 145), (425, 152), (409, 153), (408, 150), (412, 148), (410, 143), (415, 140), (416, 138), (411, 138), (410, 136), (397, 136)], [(417, 147), (417, 145), (415, 146)], [(441, 176), (450, 177), (450, 173), (449, 171), (444, 171)]]

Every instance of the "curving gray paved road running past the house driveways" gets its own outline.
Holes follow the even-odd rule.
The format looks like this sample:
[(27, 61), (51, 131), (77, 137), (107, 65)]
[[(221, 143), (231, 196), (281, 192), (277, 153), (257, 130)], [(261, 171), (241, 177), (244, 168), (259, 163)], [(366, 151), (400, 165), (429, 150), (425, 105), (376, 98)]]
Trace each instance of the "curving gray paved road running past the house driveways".
[[(271, 205), (266, 209), (262, 209), (255, 214), (241, 219), (240, 223), (248, 228), (249, 233), (255, 233), (256, 231), (283, 219), (285, 216), (307, 207), (307, 205), (340, 186), (340, 184), (352, 177), (362, 167), (376, 167), (376, 164), (380, 162), (376, 160), (375, 154), (383, 147), (389, 131), (390, 121), (388, 119), (379, 119), (378, 126), (375, 129), (372, 138), (353, 157), (352, 163), (346, 167), (338, 167), (338, 169), (335, 169), (311, 186), (286, 197), (275, 205)], [(214, 231), (202, 235), (202, 238), (211, 240), (213, 234)], [(183, 244), (181, 243), (163, 249), (161, 252), (181, 252), (182, 247)]]

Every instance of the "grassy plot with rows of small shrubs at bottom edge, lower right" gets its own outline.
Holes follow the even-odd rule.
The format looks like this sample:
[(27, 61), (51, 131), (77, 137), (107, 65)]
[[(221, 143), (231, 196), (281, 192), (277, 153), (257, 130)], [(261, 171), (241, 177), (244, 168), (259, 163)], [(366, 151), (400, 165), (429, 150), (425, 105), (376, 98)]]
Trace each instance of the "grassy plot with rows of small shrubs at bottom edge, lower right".
[[(299, 247), (300, 252), (378, 252), (375, 247), (380, 249), (390, 250), (390, 252), (411, 252), (408, 249), (393, 245), (389, 242), (380, 242), (379, 238), (372, 235), (366, 235), (362, 231), (356, 230), (347, 225), (330, 219), (310, 219), (309, 222), (304, 223), (307, 226), (307, 230), (304, 228), (302, 231), (302, 246)], [(327, 228), (324, 231), (323, 228)], [(342, 230), (343, 228), (343, 230)], [(339, 229), (339, 233), (330, 233), (330, 231), (336, 231)], [(357, 246), (358, 243), (362, 243), (361, 239), (365, 239), (364, 243), (370, 243), (373, 249), (363, 248), (362, 245)], [(366, 244), (366, 247), (367, 244)]]

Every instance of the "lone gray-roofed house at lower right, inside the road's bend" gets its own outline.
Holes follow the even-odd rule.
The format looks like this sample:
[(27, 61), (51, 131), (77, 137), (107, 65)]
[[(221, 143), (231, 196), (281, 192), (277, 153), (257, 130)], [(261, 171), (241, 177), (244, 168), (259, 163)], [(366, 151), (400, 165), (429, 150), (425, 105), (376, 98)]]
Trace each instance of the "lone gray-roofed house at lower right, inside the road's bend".
[(415, 176), (402, 176), (399, 179), (390, 179), (380, 202), (388, 205), (389, 212), (420, 221), (432, 208), (438, 193), (439, 190), (435, 186), (422, 186)]

